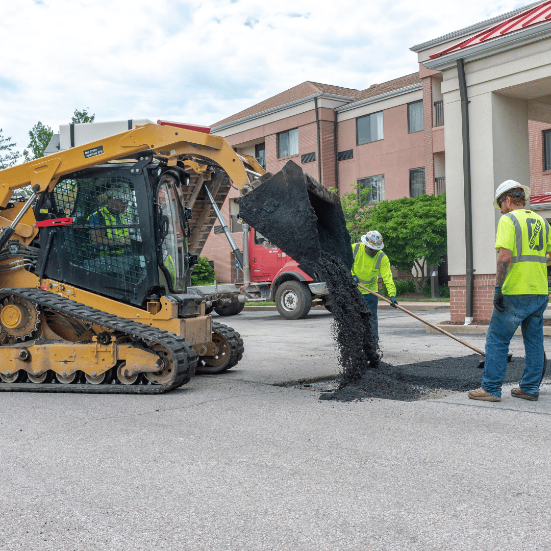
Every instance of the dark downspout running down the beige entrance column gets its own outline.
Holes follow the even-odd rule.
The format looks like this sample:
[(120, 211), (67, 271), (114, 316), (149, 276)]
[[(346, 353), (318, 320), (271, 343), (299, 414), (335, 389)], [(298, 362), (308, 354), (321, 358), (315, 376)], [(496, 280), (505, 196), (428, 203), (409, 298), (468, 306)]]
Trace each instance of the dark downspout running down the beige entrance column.
[(473, 217), (471, 203), (471, 142), (469, 141), (469, 103), (463, 58), (457, 60), (457, 78), (461, 96), (461, 128), (463, 134), (463, 193), (465, 203), (465, 266), (467, 272), (467, 310), (464, 325), (473, 321)]

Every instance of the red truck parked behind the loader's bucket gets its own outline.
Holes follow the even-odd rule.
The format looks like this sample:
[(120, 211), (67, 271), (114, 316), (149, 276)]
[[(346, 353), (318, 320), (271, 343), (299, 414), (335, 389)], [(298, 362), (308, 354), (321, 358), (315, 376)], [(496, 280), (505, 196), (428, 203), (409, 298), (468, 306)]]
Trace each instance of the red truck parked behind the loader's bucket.
[(275, 301), (279, 314), (287, 320), (306, 317), (312, 301), (331, 311), (325, 283), (315, 282), (297, 262), (247, 224), (243, 224), (243, 244), (241, 281), (193, 288), (204, 295), (207, 313), (214, 310), (220, 316), (232, 316), (243, 310), (245, 302), (260, 301)]

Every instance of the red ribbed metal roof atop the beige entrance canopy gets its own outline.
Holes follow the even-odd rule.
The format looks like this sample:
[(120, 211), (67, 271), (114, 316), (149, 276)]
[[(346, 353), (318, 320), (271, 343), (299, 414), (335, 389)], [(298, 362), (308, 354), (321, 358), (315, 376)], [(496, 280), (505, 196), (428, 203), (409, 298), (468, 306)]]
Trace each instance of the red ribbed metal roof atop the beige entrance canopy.
[(520, 31), (533, 25), (539, 25), (549, 20), (551, 20), (551, 0), (545, 0), (545, 2), (538, 4), (538, 6), (518, 13), (509, 19), (505, 19), (466, 40), (462, 40), (453, 46), (447, 47), (445, 50), (433, 53), (430, 58), (434, 60), (436, 57), (445, 56), (448, 53), (463, 50), (463, 48), (468, 48), (469, 46), (476, 46), (480, 44), (480, 42), (486, 42), (487, 40), (493, 40), (506, 34), (515, 33), (515, 31)]

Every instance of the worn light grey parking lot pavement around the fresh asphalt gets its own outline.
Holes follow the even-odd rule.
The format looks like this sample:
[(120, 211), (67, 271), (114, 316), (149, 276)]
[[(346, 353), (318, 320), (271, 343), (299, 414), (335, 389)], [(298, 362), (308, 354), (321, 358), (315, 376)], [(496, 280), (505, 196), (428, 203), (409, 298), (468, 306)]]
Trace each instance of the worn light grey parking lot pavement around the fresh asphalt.
[[(293, 382), (337, 374), (331, 319), (220, 319), (244, 359), (168, 395), (0, 394), (0, 549), (551, 549), (551, 387), (319, 401)], [(379, 327), (389, 363), (471, 354), (402, 312)]]

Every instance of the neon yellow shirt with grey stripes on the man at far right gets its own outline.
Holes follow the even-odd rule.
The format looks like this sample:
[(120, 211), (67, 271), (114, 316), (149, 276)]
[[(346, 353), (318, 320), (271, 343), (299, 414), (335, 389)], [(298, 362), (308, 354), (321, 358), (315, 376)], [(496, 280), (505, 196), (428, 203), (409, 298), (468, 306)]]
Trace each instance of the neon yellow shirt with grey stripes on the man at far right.
[(513, 253), (501, 292), (504, 295), (547, 295), (549, 223), (532, 210), (515, 209), (498, 223), (495, 249)]

